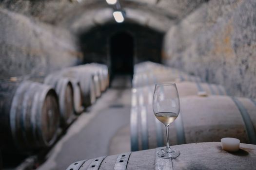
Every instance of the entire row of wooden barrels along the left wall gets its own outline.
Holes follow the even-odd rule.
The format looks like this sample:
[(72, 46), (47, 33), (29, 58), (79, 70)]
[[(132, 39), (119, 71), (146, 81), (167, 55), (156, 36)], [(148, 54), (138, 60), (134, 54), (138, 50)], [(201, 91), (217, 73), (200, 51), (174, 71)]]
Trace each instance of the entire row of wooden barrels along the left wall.
[(0, 150), (25, 155), (52, 146), (108, 85), (107, 66), (96, 63), (26, 81), (2, 80)]

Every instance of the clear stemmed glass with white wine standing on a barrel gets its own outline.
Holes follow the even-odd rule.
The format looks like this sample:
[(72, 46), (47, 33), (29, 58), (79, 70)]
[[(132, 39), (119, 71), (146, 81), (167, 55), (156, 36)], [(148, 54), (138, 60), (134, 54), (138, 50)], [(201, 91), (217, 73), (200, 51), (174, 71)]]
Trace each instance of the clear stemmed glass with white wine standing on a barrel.
[(169, 125), (177, 118), (180, 110), (178, 91), (175, 83), (156, 84), (153, 96), (153, 111), (166, 128), (166, 148), (158, 152), (161, 158), (176, 158), (180, 152), (170, 148)]

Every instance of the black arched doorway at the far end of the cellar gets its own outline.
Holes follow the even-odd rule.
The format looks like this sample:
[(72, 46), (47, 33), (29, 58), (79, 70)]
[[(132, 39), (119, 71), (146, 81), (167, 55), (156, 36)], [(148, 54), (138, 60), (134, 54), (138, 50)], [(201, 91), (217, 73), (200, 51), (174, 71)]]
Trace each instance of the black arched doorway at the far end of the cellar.
[(112, 78), (117, 74), (133, 74), (134, 38), (126, 32), (114, 34), (110, 39)]

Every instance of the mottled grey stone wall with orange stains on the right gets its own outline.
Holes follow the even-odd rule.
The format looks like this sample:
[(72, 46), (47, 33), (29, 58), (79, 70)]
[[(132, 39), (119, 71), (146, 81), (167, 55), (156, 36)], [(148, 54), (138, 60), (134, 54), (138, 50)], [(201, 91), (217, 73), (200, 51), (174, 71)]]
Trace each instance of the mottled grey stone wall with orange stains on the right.
[(212, 0), (171, 27), (164, 63), (256, 98), (256, 1)]

